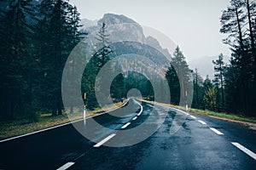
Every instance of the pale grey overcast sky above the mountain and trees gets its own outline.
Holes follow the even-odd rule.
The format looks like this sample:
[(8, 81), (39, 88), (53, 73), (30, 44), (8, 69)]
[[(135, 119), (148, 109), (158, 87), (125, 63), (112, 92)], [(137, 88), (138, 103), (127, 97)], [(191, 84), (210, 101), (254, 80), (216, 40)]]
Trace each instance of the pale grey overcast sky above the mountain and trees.
[(179, 45), (188, 60), (223, 53), (225, 35), (219, 18), (230, 0), (70, 0), (81, 18), (98, 20), (103, 14), (125, 14), (143, 26), (164, 33)]

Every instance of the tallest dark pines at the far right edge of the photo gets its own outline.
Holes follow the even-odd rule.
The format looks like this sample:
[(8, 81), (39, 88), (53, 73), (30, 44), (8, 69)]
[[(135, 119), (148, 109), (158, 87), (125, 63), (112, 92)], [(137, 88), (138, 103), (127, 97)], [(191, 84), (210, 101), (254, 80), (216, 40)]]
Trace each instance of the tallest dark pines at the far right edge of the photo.
[(223, 77), (223, 105), (230, 111), (255, 116), (256, 111), (256, 2), (231, 0), (221, 16), (220, 32), (228, 35), (230, 65), (216, 65)]

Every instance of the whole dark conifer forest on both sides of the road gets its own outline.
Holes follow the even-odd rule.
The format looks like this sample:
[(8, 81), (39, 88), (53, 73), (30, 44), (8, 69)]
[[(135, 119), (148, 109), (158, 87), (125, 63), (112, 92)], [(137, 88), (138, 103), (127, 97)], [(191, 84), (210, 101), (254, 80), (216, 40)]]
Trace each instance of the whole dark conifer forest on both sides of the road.
[[(2, 1), (2, 0), (1, 0)], [(0, 14), (0, 105), (1, 119), (29, 118), (51, 112), (61, 115), (61, 77), (68, 55), (86, 39), (81, 30), (78, 9), (66, 0), (2, 1)], [(187, 98), (187, 83), (194, 83), (192, 107), (224, 111), (246, 116), (256, 114), (256, 2), (231, 0), (224, 10), (220, 32), (227, 35), (224, 43), (230, 45), (230, 63), (224, 63), (223, 54), (212, 61), (215, 79), (203, 80), (200, 73), (191, 71), (179, 47), (172, 54), (171, 66), (160, 77), (158, 87), (166, 78), (170, 86), (171, 103), (179, 105)], [(96, 101), (95, 79), (108, 60), (117, 52), (108, 41), (108, 26), (98, 30), (96, 52), (86, 65), (81, 84), (87, 109), (99, 105)], [(77, 59), (73, 59), (78, 62)], [(139, 67), (139, 65), (137, 65)], [(121, 67), (119, 67), (121, 69)], [(191, 79), (192, 75), (192, 79)], [(103, 83), (103, 82), (102, 82)], [(111, 85), (111, 97), (120, 101), (131, 88), (138, 88), (145, 99), (154, 99), (154, 90), (147, 77), (129, 72), (119, 74)], [(163, 88), (158, 89), (165, 94)], [(72, 97), (72, 96), (71, 96)], [(183, 104), (182, 104), (183, 105)], [(71, 105), (70, 111), (73, 112)]]

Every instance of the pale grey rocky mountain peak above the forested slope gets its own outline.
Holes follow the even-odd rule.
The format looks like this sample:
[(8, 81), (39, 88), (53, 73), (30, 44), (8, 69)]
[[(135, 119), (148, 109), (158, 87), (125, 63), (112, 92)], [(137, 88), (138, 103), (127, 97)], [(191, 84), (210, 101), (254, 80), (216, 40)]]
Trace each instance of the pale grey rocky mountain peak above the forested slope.
[[(161, 54), (165, 54), (168, 59), (171, 59), (171, 54), (166, 48), (160, 46), (160, 42), (156, 38), (152, 36), (146, 37), (143, 32), (143, 26), (123, 14), (104, 14), (102, 19), (98, 20), (97, 23), (95, 22), (96, 20), (93, 22), (92, 20), (84, 19), (84, 23), (82, 23), (84, 30), (90, 33), (98, 32), (102, 24), (105, 23), (108, 26), (109, 39), (112, 42), (119, 42), (119, 40), (125, 39), (131, 42), (146, 43), (157, 49)], [(162, 63), (162, 65), (166, 65), (166, 63)]]

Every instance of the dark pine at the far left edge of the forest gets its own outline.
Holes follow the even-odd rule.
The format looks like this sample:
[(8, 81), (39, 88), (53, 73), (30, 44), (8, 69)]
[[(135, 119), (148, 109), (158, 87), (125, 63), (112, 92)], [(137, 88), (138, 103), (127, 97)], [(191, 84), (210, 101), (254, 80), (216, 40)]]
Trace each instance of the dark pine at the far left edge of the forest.
[(26, 116), (32, 103), (32, 45), (33, 6), (31, 0), (7, 1), (0, 15), (1, 85), (4, 117), (15, 113)]

